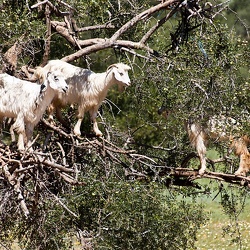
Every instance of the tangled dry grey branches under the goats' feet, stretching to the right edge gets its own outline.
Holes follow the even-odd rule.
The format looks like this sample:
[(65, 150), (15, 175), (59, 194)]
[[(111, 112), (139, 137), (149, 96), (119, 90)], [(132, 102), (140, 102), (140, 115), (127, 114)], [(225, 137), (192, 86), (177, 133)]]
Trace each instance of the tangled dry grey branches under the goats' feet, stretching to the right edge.
[[(46, 131), (43, 132), (46, 147), (41, 147), (43, 142), (36, 141), (34, 148), (38, 143), (40, 143), (40, 147), (34, 152), (19, 153), (15, 147), (0, 143), (0, 185), (9, 186), (13, 190), (19, 201), (20, 211), (25, 217), (29, 216), (30, 209), (34, 210), (38, 206), (39, 197), (43, 196), (39, 192), (49, 190), (50, 182), (59, 181), (69, 186), (86, 185), (84, 162), (87, 163), (86, 155), (89, 154), (98, 158), (99, 164), (103, 165), (106, 172), (104, 172), (106, 177), (110, 175), (111, 171), (108, 166), (115, 166), (115, 168), (123, 169), (123, 176), (119, 174), (119, 178), (129, 181), (149, 182), (153, 180), (164, 182), (167, 186), (199, 187), (195, 180), (209, 178), (250, 187), (249, 177), (218, 172), (206, 172), (200, 176), (198, 167), (197, 170), (190, 169), (186, 167), (186, 163), (183, 165), (185, 167), (166, 166), (164, 160), (159, 162), (158, 158), (142, 154), (134, 149), (126, 150), (105, 138), (75, 137), (73, 134), (64, 132), (62, 128), (49, 124), (46, 120), (41, 122), (40, 126), (43, 127), (43, 131)], [(46, 139), (46, 134), (50, 134), (49, 140)], [(152, 150), (165, 149), (154, 147)], [(191, 155), (185, 160), (190, 160), (192, 157), (195, 155)], [(220, 161), (222, 160), (220, 159)], [(50, 181), (48, 182), (48, 180)], [(31, 185), (31, 183), (37, 184)], [(37, 185), (40, 186), (39, 192)], [(52, 196), (68, 210), (67, 206), (58, 197), (55, 197), (56, 194)]]

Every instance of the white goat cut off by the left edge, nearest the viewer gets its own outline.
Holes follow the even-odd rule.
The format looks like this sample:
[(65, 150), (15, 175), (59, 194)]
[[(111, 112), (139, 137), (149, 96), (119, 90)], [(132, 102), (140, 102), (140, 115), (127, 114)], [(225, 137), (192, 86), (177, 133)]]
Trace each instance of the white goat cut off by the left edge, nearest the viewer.
[[(18, 133), (18, 149), (24, 150), (24, 140), (28, 148), (34, 127), (40, 121), (47, 106), (57, 92), (66, 92), (68, 86), (60, 72), (48, 72), (46, 76), (41, 71), (43, 83), (20, 80), (8, 74), (0, 74), (0, 122), (4, 117), (16, 118), (11, 127)], [(14, 138), (12, 136), (12, 140)]]

